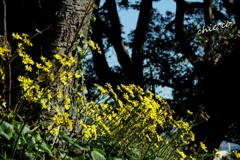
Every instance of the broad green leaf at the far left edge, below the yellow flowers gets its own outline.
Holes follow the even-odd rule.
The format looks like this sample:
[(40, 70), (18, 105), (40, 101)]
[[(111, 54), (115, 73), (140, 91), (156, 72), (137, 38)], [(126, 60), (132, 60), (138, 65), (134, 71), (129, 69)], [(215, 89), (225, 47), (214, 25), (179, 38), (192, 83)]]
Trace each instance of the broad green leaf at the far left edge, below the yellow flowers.
[[(1, 121), (1, 120), (0, 120)], [(3, 138), (10, 140), (14, 134), (14, 128), (11, 124), (3, 121), (0, 125), (0, 136)]]

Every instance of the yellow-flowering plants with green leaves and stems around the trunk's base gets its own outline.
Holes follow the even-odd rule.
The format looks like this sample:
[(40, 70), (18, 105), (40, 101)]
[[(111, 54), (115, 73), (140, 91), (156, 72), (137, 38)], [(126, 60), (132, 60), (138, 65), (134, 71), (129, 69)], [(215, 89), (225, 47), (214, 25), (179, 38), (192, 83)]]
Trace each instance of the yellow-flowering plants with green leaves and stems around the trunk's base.
[[(16, 57), (21, 58), (27, 73), (34, 74), (18, 75), (19, 95), (14, 103), (9, 104), (4, 98), (7, 89), (0, 94), (2, 158), (196, 159), (196, 156), (187, 156), (181, 148), (194, 141), (191, 127), (207, 120), (204, 112), (192, 123), (174, 120), (172, 115), (175, 112), (166, 101), (134, 84), (117, 86), (115, 91), (110, 84), (104, 87), (96, 85), (98, 98), (89, 101), (85, 97), (83, 66), (75, 72), (68, 71), (76, 63), (74, 57), (62, 53), (57, 47), (54, 61), (41, 56), (41, 62), (34, 62), (26, 53), (26, 49), (33, 46), (27, 38), (29, 35), (13, 33), (12, 36), (17, 40), (16, 50), (0, 45), (1, 87), (9, 79), (5, 72), (8, 65)], [(84, 41), (82, 45), (101, 53), (91, 40)], [(83, 61), (87, 47), (80, 45), (77, 49)], [(64, 95), (63, 87), (51, 90), (68, 86), (74, 79), (82, 81), (73, 86), (72, 95)], [(63, 103), (55, 104), (53, 99)], [(39, 105), (42, 110), (53, 112), (52, 117), (42, 115), (34, 122), (34, 127), (28, 126), (31, 114)], [(19, 111), (25, 108), (29, 110), (21, 117)], [(187, 111), (187, 114), (193, 113)], [(45, 123), (47, 119), (51, 119), (51, 124)], [(73, 131), (76, 133), (72, 135)], [(199, 146), (207, 152), (204, 143)]]

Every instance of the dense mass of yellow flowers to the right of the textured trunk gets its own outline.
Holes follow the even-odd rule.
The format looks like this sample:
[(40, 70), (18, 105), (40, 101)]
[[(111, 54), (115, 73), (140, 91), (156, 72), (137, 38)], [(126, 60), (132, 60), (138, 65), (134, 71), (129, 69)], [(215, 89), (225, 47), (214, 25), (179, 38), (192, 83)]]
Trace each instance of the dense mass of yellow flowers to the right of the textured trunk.
[[(88, 112), (88, 116), (95, 121), (98, 136), (111, 135), (114, 142), (125, 144), (126, 139), (135, 139), (144, 144), (152, 143), (156, 148), (161, 148), (169, 143), (168, 135), (160, 135), (164, 128), (176, 127), (181, 131), (182, 145), (188, 144), (187, 140), (194, 141), (194, 134), (187, 122), (175, 121), (172, 118), (173, 110), (161, 97), (154, 96), (150, 91), (146, 93), (136, 85), (117, 86), (115, 93), (110, 84), (99, 89), (100, 99), (107, 99), (101, 103), (89, 102), (82, 113)], [(108, 98), (107, 98), (108, 97)], [(82, 121), (82, 126), (86, 125)], [(87, 125), (83, 128), (88, 128)], [(88, 132), (90, 136), (91, 132)], [(130, 146), (129, 146), (130, 147)]]

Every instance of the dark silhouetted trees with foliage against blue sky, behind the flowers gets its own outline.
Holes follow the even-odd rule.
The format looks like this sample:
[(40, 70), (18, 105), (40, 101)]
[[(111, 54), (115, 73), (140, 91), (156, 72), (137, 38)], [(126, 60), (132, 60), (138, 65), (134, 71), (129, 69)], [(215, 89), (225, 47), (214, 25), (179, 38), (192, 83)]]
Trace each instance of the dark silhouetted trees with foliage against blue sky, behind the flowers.
[[(206, 144), (211, 151), (226, 140), (224, 135), (236, 121), (230, 117), (236, 117), (237, 98), (229, 93), (239, 89), (236, 77), (239, 41), (235, 40), (237, 34), (234, 31), (235, 26), (239, 28), (238, 2), (175, 2), (176, 13), (167, 12), (163, 16), (153, 8), (151, 0), (135, 3), (106, 0), (95, 11), (92, 39), (103, 52), (113, 46), (121, 67), (110, 68), (104, 54), (94, 54), (95, 80), (92, 74), (89, 75), (88, 86), (93, 82), (100, 85), (109, 82), (113, 85), (135, 83), (153, 92), (160, 85), (173, 88), (174, 99), (170, 104), (177, 111), (177, 117), (181, 118), (187, 109), (196, 111), (199, 105), (211, 117), (208, 123), (195, 129), (197, 142), (209, 137)], [(130, 41), (124, 41), (122, 37), (117, 5), (139, 10)], [(226, 14), (222, 12), (224, 9)], [(203, 26), (227, 20), (236, 23), (219, 31), (197, 34)], [(130, 47), (131, 56), (126, 47)]]

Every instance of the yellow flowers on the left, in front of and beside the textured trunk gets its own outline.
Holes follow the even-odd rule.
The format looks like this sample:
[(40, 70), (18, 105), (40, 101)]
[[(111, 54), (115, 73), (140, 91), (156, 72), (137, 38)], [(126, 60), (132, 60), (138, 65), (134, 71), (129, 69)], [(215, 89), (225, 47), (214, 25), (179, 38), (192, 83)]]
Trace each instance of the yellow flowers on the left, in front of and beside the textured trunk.
[[(22, 34), (20, 36), (18, 33), (12, 34), (13, 38), (15, 40), (19, 40), (18, 47), (15, 51), (18, 56), (22, 58), (22, 63), (25, 65), (26, 71), (32, 71), (32, 65), (36, 65), (36, 68), (39, 69), (39, 71), (43, 72), (37, 72), (37, 76), (34, 78), (29, 78), (27, 76), (18, 76), (18, 81), (20, 82), (20, 87), (23, 89), (21, 99), (27, 100), (29, 102), (38, 103), (42, 106), (43, 109), (46, 109), (48, 111), (55, 108), (56, 114), (53, 115), (52, 121), (53, 125), (49, 125), (48, 129), (50, 133), (52, 134), (58, 134), (59, 130), (62, 127), (69, 128), (70, 130), (73, 129), (73, 122), (70, 118), (70, 115), (67, 112), (60, 111), (59, 108), (56, 108), (56, 106), (53, 106), (51, 100), (53, 97), (56, 97), (58, 99), (64, 98), (65, 104), (64, 109), (68, 111), (70, 109), (70, 103), (71, 99), (68, 95), (63, 96), (63, 88), (59, 88), (55, 92), (51, 91), (49, 88), (40, 87), (42, 86), (42, 82), (50, 81), (55, 82), (56, 80), (59, 80), (63, 85), (67, 86), (68, 81), (72, 81), (73, 78), (80, 78), (80, 71), (77, 70), (76, 72), (67, 72), (65, 70), (59, 70), (59, 79), (57, 79), (58, 75), (55, 75), (52, 73), (54, 70), (56, 70), (56, 67), (59, 67), (54, 62), (51, 62), (46, 57), (41, 56), (41, 63), (34, 63), (30, 55), (26, 54), (25, 48), (28, 46), (32, 46), (32, 43), (30, 42), (27, 37), (29, 35)], [(58, 51), (61, 50), (61, 48), (57, 48)], [(4, 53), (8, 52), (9, 50), (6, 47), (0, 48), (0, 55), (4, 59)], [(76, 60), (74, 57), (70, 56), (69, 58), (65, 54), (56, 54), (54, 57), (59, 60), (62, 66), (60, 67), (71, 67)], [(54, 68), (53, 68), (54, 67)], [(45, 73), (44, 73), (45, 72)], [(0, 76), (2, 79), (4, 79), (4, 69), (0, 68)], [(52, 83), (53, 84), (53, 83)], [(51, 105), (50, 105), (51, 104)], [(2, 102), (2, 106), (6, 107), (6, 101)], [(6, 115), (7, 116), (7, 115)], [(92, 126), (91, 128), (94, 128)], [(96, 136), (95, 136), (96, 137)]]

